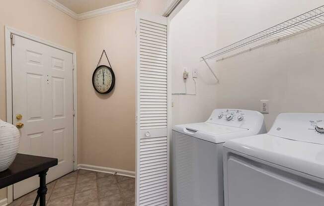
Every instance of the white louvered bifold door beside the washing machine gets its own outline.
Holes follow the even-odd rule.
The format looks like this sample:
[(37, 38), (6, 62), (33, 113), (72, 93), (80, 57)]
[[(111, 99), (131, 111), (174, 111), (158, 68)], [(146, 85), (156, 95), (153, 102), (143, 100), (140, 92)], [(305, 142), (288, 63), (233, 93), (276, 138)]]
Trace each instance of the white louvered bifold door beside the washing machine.
[(166, 17), (137, 11), (137, 206), (169, 205)]

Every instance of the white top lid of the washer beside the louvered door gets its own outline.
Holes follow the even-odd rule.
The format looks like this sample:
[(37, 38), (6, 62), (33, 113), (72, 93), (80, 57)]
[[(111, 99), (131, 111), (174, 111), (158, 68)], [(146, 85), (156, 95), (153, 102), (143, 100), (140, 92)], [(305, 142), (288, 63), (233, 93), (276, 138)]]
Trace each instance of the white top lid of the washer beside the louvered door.
[(234, 135), (236, 135), (236, 138), (252, 135), (249, 133), (249, 130), (245, 128), (230, 127), (208, 122), (176, 125), (173, 127), (173, 130), (212, 143), (223, 143), (227, 137), (233, 137), (232, 133), (235, 133)]

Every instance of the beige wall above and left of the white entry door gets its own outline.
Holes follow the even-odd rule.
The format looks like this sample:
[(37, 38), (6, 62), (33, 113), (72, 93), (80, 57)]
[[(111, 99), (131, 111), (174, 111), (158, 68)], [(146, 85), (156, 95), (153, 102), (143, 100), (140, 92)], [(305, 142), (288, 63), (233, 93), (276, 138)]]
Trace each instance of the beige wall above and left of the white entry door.
[[(6, 120), (4, 26), (77, 50), (77, 21), (43, 0), (2, 0), (0, 6), (0, 119)], [(0, 190), (0, 200), (6, 190)]]

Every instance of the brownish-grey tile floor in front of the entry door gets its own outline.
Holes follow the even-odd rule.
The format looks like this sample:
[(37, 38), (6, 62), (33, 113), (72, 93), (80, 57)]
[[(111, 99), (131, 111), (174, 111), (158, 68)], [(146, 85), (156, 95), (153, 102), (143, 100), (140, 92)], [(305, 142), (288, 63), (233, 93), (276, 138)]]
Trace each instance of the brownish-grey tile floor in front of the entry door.
[[(47, 184), (47, 206), (134, 206), (135, 179), (77, 170)], [(32, 206), (37, 191), (9, 206)]]

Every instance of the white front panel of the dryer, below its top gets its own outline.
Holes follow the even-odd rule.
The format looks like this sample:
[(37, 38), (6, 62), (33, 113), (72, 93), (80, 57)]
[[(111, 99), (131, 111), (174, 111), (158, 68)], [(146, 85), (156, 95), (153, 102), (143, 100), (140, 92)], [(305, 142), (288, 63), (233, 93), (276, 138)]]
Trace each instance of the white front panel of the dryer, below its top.
[(226, 206), (323, 206), (323, 183), (241, 157), (226, 165)]

